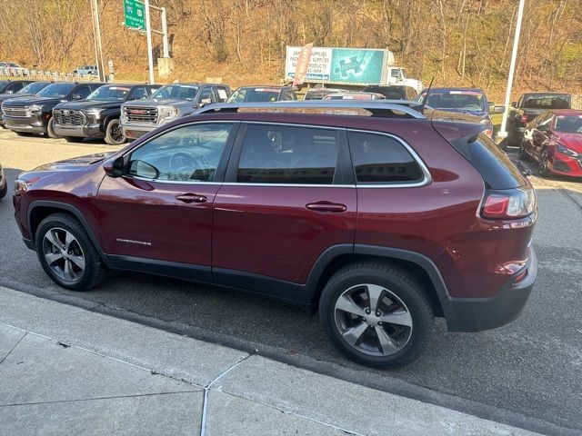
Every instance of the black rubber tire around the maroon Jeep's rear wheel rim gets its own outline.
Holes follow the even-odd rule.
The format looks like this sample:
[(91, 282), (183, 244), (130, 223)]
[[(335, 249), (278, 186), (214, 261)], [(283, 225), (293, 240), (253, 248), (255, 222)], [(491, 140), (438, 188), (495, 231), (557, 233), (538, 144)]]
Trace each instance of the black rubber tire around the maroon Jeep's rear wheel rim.
[[(389, 301), (399, 300), (404, 303), (406, 312), (410, 316), (411, 327), (401, 328), (401, 332), (407, 332), (407, 342), (403, 343), (402, 348), (397, 349), (393, 354), (372, 355), (371, 352), (362, 352), (361, 349), (346, 342), (342, 332), (340, 332), (340, 327), (336, 322), (336, 302), (345, 292), (357, 288), (361, 283), (379, 285), (385, 291), (387, 290), (386, 292), (390, 292), (392, 296), (390, 296)], [(384, 295), (386, 297), (386, 293)], [(380, 369), (397, 368), (414, 361), (424, 350), (432, 335), (434, 325), (434, 313), (422, 286), (405, 270), (382, 262), (351, 263), (337, 271), (326, 283), (321, 294), (319, 312), (327, 337), (340, 352), (356, 362)], [(341, 311), (339, 313), (346, 314), (346, 312)], [(356, 322), (362, 325), (366, 319), (360, 319)], [(370, 341), (374, 341), (376, 327), (369, 327), (372, 329), (372, 335), (368, 338)], [(385, 323), (382, 328), (392, 327), (394, 327), (392, 324), (388, 324), (386, 327)], [(408, 328), (410, 330), (406, 331)], [(367, 330), (363, 334), (368, 335)], [(376, 337), (378, 336), (376, 335)], [(381, 352), (382, 347), (379, 346), (379, 348)]]

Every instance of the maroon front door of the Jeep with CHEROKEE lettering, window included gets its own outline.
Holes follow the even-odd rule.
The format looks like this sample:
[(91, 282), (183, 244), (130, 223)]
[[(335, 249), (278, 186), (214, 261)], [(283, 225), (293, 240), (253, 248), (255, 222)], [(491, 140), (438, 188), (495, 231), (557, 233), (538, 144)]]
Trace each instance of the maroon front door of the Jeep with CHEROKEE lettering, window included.
[(206, 266), (212, 206), (238, 124), (176, 126), (125, 157), (122, 177), (106, 176), (96, 198), (105, 253)]

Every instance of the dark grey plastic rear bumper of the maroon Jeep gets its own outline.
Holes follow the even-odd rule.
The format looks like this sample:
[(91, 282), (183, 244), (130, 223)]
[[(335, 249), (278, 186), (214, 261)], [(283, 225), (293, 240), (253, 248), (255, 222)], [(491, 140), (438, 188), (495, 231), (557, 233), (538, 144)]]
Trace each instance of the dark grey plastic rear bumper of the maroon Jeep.
[(507, 282), (487, 298), (450, 297), (445, 309), (451, 332), (481, 332), (495, 329), (517, 319), (523, 311), (537, 277), (537, 256), (529, 247), (527, 275), (520, 282)]

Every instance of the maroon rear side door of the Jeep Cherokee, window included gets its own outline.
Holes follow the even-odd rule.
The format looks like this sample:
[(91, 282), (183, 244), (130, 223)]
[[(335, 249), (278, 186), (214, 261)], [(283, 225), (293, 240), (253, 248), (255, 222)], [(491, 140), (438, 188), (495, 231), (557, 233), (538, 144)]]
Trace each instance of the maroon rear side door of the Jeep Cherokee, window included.
[(356, 190), (344, 129), (241, 127), (216, 195), (215, 282), (295, 299), (330, 247), (350, 247)]

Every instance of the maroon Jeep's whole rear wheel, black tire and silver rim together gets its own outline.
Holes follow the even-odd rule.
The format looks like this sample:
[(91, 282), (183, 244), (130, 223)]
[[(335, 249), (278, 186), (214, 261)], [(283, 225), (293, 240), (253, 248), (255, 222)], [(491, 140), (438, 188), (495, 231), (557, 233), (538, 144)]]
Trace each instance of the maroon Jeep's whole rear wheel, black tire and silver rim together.
[(387, 263), (353, 263), (326, 283), (319, 311), (340, 352), (376, 368), (416, 359), (431, 336), (434, 314), (414, 277)]

